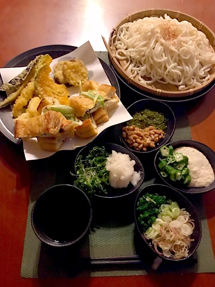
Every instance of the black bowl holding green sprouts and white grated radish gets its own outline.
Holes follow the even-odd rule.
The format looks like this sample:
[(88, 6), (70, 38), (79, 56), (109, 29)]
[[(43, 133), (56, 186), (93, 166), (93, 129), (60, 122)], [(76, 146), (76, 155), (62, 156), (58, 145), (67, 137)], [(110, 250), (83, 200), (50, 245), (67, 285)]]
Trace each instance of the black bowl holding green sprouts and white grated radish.
[[(104, 143), (101, 146), (104, 146), (108, 153), (112, 153), (112, 150), (115, 150), (116, 152), (128, 154), (130, 156), (130, 158), (136, 162), (136, 164), (134, 165), (134, 170), (137, 172), (141, 171), (141, 178), (140, 178), (140, 180), (136, 186), (133, 186), (130, 183), (126, 188), (114, 189), (110, 185), (107, 185), (106, 191), (108, 194), (101, 192), (101, 193), (94, 193), (93, 195), (98, 196), (100, 198), (105, 198), (105, 199), (116, 199), (116, 198), (122, 198), (122, 197), (126, 197), (128, 195), (131, 195), (135, 190), (137, 190), (141, 186), (141, 184), (144, 180), (144, 169), (143, 169), (141, 162), (132, 152), (130, 152), (129, 150), (125, 149), (122, 146), (119, 146), (118, 144)], [(79, 155), (82, 155), (83, 158), (85, 158), (89, 154), (90, 149), (92, 149), (93, 147), (94, 147), (93, 145), (85, 146), (78, 153), (76, 160), (75, 160), (75, 164), (76, 164), (76, 161), (77, 161), (77, 158)], [(75, 170), (75, 172), (76, 172), (76, 170)]]

